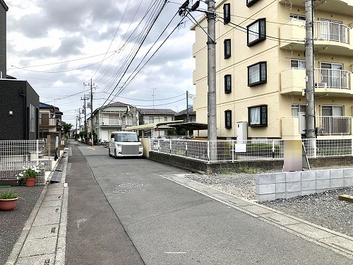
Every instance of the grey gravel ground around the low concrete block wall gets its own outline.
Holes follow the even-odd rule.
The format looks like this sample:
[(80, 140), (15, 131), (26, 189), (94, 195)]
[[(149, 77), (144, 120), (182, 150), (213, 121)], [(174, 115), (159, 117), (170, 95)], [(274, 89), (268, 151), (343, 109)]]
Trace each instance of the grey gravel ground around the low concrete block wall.
[[(232, 175), (192, 174), (185, 177), (241, 199), (254, 201), (256, 199), (255, 176), (255, 174), (234, 173)], [(353, 203), (340, 201), (338, 199), (340, 194), (353, 196), (353, 187), (258, 204), (353, 237)]]

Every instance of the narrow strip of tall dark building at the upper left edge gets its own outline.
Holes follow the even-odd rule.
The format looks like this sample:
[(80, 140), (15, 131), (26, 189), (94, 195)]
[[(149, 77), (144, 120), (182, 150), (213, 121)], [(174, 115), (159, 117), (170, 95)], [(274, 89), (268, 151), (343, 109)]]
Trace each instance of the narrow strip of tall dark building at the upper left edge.
[(6, 78), (6, 6), (4, 0), (0, 0), (0, 78)]

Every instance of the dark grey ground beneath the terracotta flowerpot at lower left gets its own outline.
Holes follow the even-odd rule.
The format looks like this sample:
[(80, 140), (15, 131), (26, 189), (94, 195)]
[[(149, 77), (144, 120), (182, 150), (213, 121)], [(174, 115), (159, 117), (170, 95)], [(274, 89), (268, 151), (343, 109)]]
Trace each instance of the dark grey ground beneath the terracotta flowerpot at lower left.
[(25, 222), (37, 203), (44, 185), (35, 187), (14, 186), (11, 188), (0, 187), (0, 192), (13, 189), (20, 198), (13, 211), (0, 211), (0, 264), (5, 264), (15, 245)]

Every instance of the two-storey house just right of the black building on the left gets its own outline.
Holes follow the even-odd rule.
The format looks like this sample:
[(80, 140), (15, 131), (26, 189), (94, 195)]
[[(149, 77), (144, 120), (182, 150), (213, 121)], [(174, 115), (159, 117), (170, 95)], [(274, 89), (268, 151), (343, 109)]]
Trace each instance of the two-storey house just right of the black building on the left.
[(40, 139), (51, 139), (55, 143), (56, 136), (61, 139), (61, 117), (59, 107), (40, 102)]

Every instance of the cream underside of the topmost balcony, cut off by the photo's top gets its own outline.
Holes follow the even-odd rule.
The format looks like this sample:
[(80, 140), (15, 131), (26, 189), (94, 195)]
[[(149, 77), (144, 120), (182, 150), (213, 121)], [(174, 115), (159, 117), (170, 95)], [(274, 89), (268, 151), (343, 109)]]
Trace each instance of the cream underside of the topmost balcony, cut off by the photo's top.
[[(305, 7), (305, 1), (303, 0), (280, 0), (281, 4), (287, 7), (300, 6)], [(352, 0), (316, 0), (314, 8), (318, 11), (327, 11), (330, 13), (339, 13), (351, 16), (353, 13), (353, 1)]]

